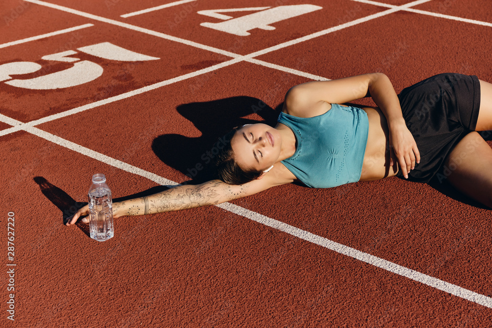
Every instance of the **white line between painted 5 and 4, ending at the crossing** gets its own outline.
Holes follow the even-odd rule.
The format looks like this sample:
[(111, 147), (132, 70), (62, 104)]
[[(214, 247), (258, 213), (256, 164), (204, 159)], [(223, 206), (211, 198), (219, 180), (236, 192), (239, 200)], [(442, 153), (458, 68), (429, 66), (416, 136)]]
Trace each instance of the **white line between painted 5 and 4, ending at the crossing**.
[(207, 51), (210, 51), (210, 52), (213, 52), (213, 53), (216, 53), (216, 54), (221, 54), (221, 55), (229, 56), (229, 57), (232, 57), (232, 58), (237, 58), (237, 57), (240, 56), (240, 55), (237, 55), (237, 54), (233, 54), (233, 53), (231, 53), (229, 51), (225, 51), (225, 50), (222, 50), (222, 49), (218, 49), (218, 48), (206, 46), (204, 44), (200, 44), (200, 43), (197, 43), (197, 42), (185, 40), (185, 39), (182, 39), (182, 38), (179, 38), (179, 37), (176, 37), (176, 36), (172, 36), (172, 35), (168, 35), (168, 34), (156, 32), (156, 31), (153, 31), (153, 30), (144, 29), (144, 28), (141, 28), (141, 27), (138, 27), (138, 26), (135, 26), (135, 25), (131, 25), (131, 24), (127, 24), (127, 23), (123, 23), (123, 22), (120, 22), (120, 21), (115, 21), (114, 19), (109, 19), (109, 18), (104, 18), (104, 17), (101, 17), (101, 16), (97, 16), (97, 15), (92, 15), (92, 14), (89, 14), (89, 13), (86, 13), (86, 12), (83, 12), (83, 11), (79, 11), (79, 10), (75, 10), (75, 9), (72, 9), (72, 8), (64, 7), (64, 6), (61, 6), (61, 5), (58, 5), (58, 4), (53, 4), (53, 3), (49, 3), (49, 2), (45, 2), (45, 1), (40, 1), (40, 0), (25, 0), (25, 1), (26, 2), (35, 3), (35, 4), (39, 4), (41, 6), (45, 6), (45, 7), (49, 7), (49, 8), (53, 8), (53, 9), (57, 9), (57, 10), (61, 10), (61, 11), (64, 11), (64, 12), (67, 12), (67, 13), (70, 13), (70, 14), (82, 16), (82, 17), (89, 18), (89, 19), (92, 19), (92, 20), (95, 20), (95, 21), (99, 21), (99, 22), (103, 22), (103, 23), (107, 23), (107, 24), (116, 25), (116, 26), (119, 26), (119, 27), (122, 27), (122, 28), (125, 28), (125, 29), (128, 29), (128, 30), (134, 30), (134, 31), (146, 33), (146, 34), (149, 34), (149, 35), (154, 35), (154, 36), (160, 37), (162, 39), (179, 42), (179, 43), (182, 43), (182, 44), (191, 46), (191, 47), (199, 48), (199, 49), (202, 49), (202, 50), (207, 50)]

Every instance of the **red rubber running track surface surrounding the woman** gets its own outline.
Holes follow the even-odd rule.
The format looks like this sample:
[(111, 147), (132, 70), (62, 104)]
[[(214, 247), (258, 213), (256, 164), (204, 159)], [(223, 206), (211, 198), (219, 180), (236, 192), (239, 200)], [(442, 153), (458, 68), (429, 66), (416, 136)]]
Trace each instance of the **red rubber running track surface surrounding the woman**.
[[(266, 24), (275, 29), (260, 24), (265, 14), (246, 36), (200, 25), (297, 4), (312, 11), (277, 14)], [(220, 207), (123, 217), (102, 243), (85, 224), (63, 225), (96, 172), (117, 200), (202, 179), (217, 137), (273, 124), (296, 84), (372, 71), (397, 92), (447, 71), (492, 81), (488, 7), (3, 1), (0, 326), (492, 326), (491, 213), (445, 181), (283, 185)], [(229, 18), (204, 15), (214, 10)], [(103, 42), (153, 59), (87, 53)], [(70, 73), (82, 61), (101, 74)], [(39, 69), (6, 72), (16, 62)]]

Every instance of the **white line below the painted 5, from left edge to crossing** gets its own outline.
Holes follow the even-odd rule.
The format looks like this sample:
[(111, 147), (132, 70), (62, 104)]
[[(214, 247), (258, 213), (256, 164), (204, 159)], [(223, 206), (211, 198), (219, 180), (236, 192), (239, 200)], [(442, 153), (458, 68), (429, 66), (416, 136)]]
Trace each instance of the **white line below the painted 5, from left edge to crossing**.
[(137, 94), (141, 94), (141, 93), (148, 92), (148, 91), (151, 91), (151, 90), (154, 90), (154, 89), (158, 89), (158, 88), (161, 88), (161, 87), (164, 87), (164, 86), (173, 84), (173, 83), (184, 81), (186, 79), (190, 79), (190, 78), (193, 78), (193, 77), (198, 76), (198, 75), (202, 75), (202, 74), (205, 74), (205, 73), (209, 73), (209, 72), (215, 71), (215, 70), (217, 70), (219, 68), (222, 68), (222, 67), (227, 67), (229, 65), (235, 64), (235, 63), (240, 62), (240, 61), (242, 61), (242, 58), (235, 58), (235, 59), (232, 59), (232, 60), (224, 61), (224, 62), (221, 62), (219, 64), (216, 64), (216, 65), (213, 65), (213, 66), (210, 66), (210, 67), (207, 67), (207, 68), (200, 69), (198, 71), (194, 71), (194, 72), (191, 72), (191, 73), (188, 73), (188, 74), (184, 74), (184, 75), (181, 75), (181, 76), (178, 76), (178, 77), (169, 79), (169, 80), (165, 80), (165, 81), (162, 81), (162, 82), (157, 82), (157, 83), (154, 83), (154, 84), (152, 84), (150, 86), (145, 86), (145, 87), (140, 88), (140, 89), (131, 90), (131, 91), (128, 91), (128, 92), (125, 92), (125, 93), (122, 93), (122, 94), (119, 94), (119, 95), (116, 95), (116, 96), (113, 96), (113, 97), (110, 97), (110, 98), (102, 99), (102, 100), (99, 100), (99, 101), (96, 101), (96, 102), (93, 102), (93, 103), (90, 103), (90, 104), (87, 104), (87, 105), (76, 107), (76, 108), (70, 109), (68, 111), (64, 111), (62, 113), (53, 114), (53, 115), (50, 115), (50, 116), (47, 116), (47, 117), (44, 117), (44, 118), (41, 118), (41, 119), (32, 120), (32, 121), (27, 122), (27, 123), (22, 123), (22, 122), (16, 121), (16, 122), (18, 122), (20, 124), (18, 124), (18, 123), (11, 124), (8, 121), (8, 119), (10, 119), (10, 118), (1, 115), (0, 116), (0, 121), (2, 121), (4, 123), (7, 123), (7, 124), (10, 124), (10, 125), (14, 125), (14, 126), (13, 127), (10, 127), (10, 128), (7, 128), (5, 130), (1, 130), (0, 131), (0, 137), (1, 136), (4, 136), (6, 134), (9, 134), (9, 133), (13, 133), (15, 131), (23, 130), (23, 129), (29, 127), (29, 126), (34, 126), (34, 125), (46, 123), (46, 122), (49, 122), (49, 121), (52, 121), (52, 120), (55, 120), (55, 119), (61, 119), (63, 117), (70, 116), (70, 115), (73, 115), (73, 114), (77, 114), (77, 113), (86, 111), (88, 109), (92, 109), (92, 108), (99, 107), (99, 106), (102, 106), (102, 105), (110, 104), (112, 102), (119, 101), (119, 100), (122, 100), (122, 99), (126, 99), (126, 98), (129, 98), (129, 97), (135, 96)]

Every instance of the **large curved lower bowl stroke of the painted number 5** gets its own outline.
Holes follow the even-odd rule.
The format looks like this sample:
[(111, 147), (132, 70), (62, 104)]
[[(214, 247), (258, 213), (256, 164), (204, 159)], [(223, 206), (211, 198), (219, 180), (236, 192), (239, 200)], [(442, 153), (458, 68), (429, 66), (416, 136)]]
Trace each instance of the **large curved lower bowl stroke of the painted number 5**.
[(6, 84), (25, 89), (47, 90), (79, 86), (102, 75), (103, 68), (89, 60), (76, 62), (65, 70), (27, 80), (10, 80)]

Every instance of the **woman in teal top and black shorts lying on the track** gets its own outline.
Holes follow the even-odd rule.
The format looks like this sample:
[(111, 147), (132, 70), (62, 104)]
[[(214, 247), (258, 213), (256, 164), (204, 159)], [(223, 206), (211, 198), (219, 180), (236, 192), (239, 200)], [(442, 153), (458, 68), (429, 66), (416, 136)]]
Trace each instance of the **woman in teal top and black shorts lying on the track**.
[[(377, 108), (339, 105), (367, 96)], [(491, 126), (492, 84), (476, 76), (439, 74), (399, 95), (381, 73), (308, 82), (287, 92), (275, 127), (246, 124), (224, 138), (220, 179), (115, 202), (113, 215), (215, 205), (295, 180), (327, 188), (392, 176), (449, 179), (492, 207), (492, 149), (475, 132)], [(67, 225), (84, 215), (88, 206)]]

